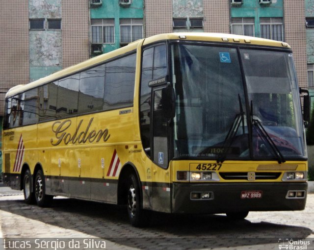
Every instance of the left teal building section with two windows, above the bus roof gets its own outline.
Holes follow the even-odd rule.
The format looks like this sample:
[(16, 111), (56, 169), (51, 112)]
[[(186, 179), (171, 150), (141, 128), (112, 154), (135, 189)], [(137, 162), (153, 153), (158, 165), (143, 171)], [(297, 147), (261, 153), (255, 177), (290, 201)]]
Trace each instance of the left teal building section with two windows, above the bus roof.
[(143, 0), (91, 0), (90, 24), (92, 55), (142, 39)]

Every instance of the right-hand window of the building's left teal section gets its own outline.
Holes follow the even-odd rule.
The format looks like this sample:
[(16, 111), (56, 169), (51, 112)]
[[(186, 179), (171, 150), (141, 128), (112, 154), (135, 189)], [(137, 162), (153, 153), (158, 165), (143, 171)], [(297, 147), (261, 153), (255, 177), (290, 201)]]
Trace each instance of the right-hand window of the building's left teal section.
[(143, 19), (120, 19), (120, 43), (128, 44), (143, 38)]

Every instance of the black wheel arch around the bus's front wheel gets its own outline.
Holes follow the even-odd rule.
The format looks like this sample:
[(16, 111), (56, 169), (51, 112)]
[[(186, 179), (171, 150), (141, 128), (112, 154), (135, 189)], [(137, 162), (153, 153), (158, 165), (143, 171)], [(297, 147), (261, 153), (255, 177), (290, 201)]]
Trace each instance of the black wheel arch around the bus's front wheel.
[[(143, 193), (142, 193), (142, 188), (141, 188), (141, 179), (139, 177), (139, 174), (134, 166), (133, 163), (127, 162), (126, 164), (123, 165), (121, 172), (119, 174), (119, 179), (118, 179), (118, 188), (117, 188), (117, 203), (119, 205), (126, 204), (127, 202), (127, 178), (130, 174), (134, 174), (135, 177), (137, 178), (138, 181), (138, 186), (140, 187), (140, 195), (141, 195), (141, 200), (143, 200)], [(142, 206), (142, 204), (141, 204)]]

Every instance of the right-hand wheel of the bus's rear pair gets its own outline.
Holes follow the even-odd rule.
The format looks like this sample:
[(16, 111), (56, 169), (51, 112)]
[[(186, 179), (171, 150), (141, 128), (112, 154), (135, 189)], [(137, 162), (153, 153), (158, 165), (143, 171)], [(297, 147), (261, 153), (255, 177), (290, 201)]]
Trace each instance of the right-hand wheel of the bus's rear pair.
[(49, 206), (52, 202), (53, 196), (46, 195), (46, 186), (44, 174), (41, 170), (37, 171), (35, 177), (35, 199), (38, 206)]

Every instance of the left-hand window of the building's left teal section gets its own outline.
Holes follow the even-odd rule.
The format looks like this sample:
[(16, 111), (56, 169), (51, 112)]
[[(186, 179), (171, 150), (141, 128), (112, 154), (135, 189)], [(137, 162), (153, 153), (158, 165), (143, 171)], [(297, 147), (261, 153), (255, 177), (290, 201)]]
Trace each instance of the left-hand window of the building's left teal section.
[(92, 19), (92, 43), (114, 43), (114, 19)]

